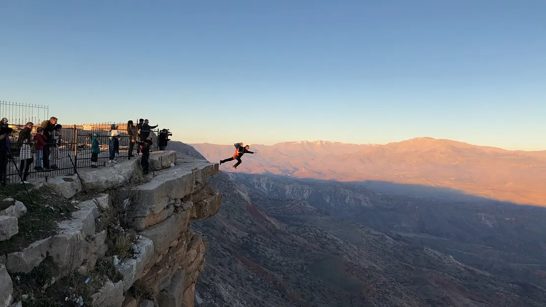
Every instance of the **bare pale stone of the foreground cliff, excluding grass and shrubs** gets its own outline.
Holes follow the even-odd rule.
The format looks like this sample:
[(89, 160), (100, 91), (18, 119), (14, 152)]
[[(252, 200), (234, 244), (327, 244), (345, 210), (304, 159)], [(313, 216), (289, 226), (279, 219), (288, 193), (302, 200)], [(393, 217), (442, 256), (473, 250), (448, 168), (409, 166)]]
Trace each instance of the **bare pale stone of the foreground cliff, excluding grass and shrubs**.
[[(29, 274), (48, 257), (58, 268), (51, 282), (75, 271), (92, 274), (102, 259), (102, 263), (106, 260), (114, 264), (112, 269), (117, 270), (121, 280), (104, 279), (91, 296), (94, 305), (193, 306), (195, 282), (204, 267), (206, 244), (200, 234), (191, 232), (190, 224), (192, 220), (216, 214), (222, 197), (205, 183), (206, 178), (218, 172), (218, 164), (188, 156), (178, 157), (182, 159), (168, 151), (152, 154), (150, 164), (155, 176), (140, 184), (130, 181), (130, 178), (141, 176), (139, 159), (81, 172), (81, 185), (67, 179), (69, 176), (50, 180), (49, 186), (66, 198), (76, 195), (82, 187), (105, 194), (78, 203), (79, 210), (73, 212), (69, 220), (58, 224), (54, 236), (8, 254), (3, 260), (5, 267), (0, 269), (0, 275), (3, 269), (7, 279), (0, 276), (0, 286), (9, 293), (0, 292), (0, 298), (5, 297), (5, 302), (8, 297), (11, 300), (9, 274)], [(2, 212), (5, 215), (0, 218), (14, 219), (16, 227), (17, 216), (24, 214), (26, 208), (23, 209), (22, 203), (11, 202), (10, 206), (4, 203), (2, 208), (6, 209)], [(112, 212), (116, 212), (115, 218), (108, 216)], [(127, 228), (136, 231), (135, 239), (129, 238), (133, 240), (130, 256), (124, 254), (126, 256), (118, 258), (112, 257), (112, 252), (109, 254), (114, 243), (108, 236), (113, 234), (98, 228), (103, 219), (116, 220), (115, 227), (121, 227), (122, 231), (128, 231)], [(145, 291), (155, 302), (136, 299), (132, 296), (135, 293), (131, 291), (132, 287), (138, 287), (135, 291)]]

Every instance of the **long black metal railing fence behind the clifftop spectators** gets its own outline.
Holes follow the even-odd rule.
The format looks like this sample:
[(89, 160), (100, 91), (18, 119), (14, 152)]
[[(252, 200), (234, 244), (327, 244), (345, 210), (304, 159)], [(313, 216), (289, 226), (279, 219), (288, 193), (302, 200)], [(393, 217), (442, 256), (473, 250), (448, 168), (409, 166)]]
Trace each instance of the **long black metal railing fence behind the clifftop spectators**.
[[(2, 114), (2, 113), (0, 113)], [(1, 116), (1, 115), (0, 115)], [(25, 122), (25, 121), (23, 121)], [(26, 123), (26, 122), (25, 122)], [(5, 176), (5, 182), (19, 183), (21, 181), (19, 171), (21, 168), (21, 159), (19, 158), (20, 148), (17, 146), (17, 139), (20, 131), (25, 128), (25, 123), (10, 125), (14, 128), (14, 135), (11, 137), (11, 154), (9, 155), (7, 172)], [(36, 128), (39, 127), (40, 121), (34, 123), (33, 136)], [(118, 123), (118, 131), (120, 132), (121, 139), (118, 152), (115, 154), (116, 162), (129, 159), (129, 148), (132, 148), (132, 155), (139, 155), (139, 145), (131, 145), (130, 137), (127, 133), (127, 123)], [(76, 170), (91, 167), (91, 140), (94, 134), (97, 134), (97, 140), (99, 141), (100, 154), (98, 155), (98, 166), (111, 165), (110, 153), (109, 153), (109, 141), (110, 141), (110, 127), (111, 123), (99, 123), (99, 124), (83, 124), (83, 125), (62, 125), (62, 129), (58, 136), (60, 142), (57, 145), (44, 148), (45, 151), (49, 150), (50, 170), (43, 171), (38, 166), (45, 166), (43, 161), (37, 160), (37, 151), (33, 148), (33, 162), (29, 169), (27, 179), (37, 177), (53, 177), (61, 174), (74, 173)], [(151, 130), (150, 136), (152, 137), (152, 146), (150, 152), (158, 151), (157, 136), (159, 135), (159, 129)]]

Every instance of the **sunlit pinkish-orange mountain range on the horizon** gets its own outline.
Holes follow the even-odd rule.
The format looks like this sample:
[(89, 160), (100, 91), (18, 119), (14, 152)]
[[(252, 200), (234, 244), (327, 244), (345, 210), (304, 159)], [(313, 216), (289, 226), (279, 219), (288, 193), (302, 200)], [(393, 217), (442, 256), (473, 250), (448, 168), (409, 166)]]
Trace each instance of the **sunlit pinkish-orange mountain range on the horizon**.
[[(228, 158), (235, 151), (233, 145), (192, 146), (209, 161)], [(258, 153), (246, 154), (236, 172), (376, 187), (379, 183), (442, 187), (495, 200), (546, 205), (546, 151), (507, 151), (430, 137), (386, 145), (284, 142), (251, 145), (251, 150)], [(224, 164), (221, 170), (233, 171), (232, 165)]]

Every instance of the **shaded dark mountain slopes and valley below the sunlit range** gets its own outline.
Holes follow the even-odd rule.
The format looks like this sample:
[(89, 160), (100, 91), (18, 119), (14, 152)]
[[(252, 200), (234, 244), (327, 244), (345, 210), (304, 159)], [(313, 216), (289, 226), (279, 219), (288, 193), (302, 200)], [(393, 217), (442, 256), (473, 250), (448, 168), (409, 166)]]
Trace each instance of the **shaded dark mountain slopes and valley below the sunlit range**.
[(544, 208), (271, 174), (209, 183), (222, 205), (193, 223), (207, 241), (199, 307), (546, 304)]

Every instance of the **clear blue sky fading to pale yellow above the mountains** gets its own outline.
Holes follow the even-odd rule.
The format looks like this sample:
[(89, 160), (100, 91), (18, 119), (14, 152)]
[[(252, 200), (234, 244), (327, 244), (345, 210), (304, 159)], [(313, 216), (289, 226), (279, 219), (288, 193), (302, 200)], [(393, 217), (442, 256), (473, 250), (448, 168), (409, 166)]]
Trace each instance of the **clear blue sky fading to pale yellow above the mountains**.
[(0, 1), (0, 100), (189, 142), (546, 149), (544, 0)]

